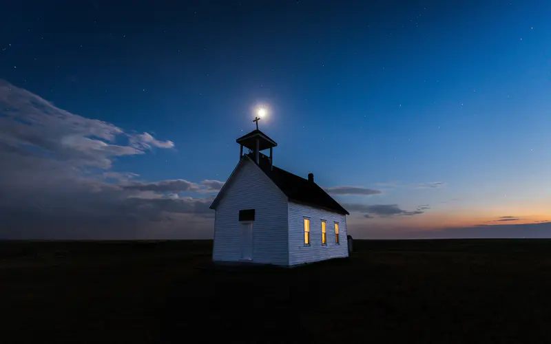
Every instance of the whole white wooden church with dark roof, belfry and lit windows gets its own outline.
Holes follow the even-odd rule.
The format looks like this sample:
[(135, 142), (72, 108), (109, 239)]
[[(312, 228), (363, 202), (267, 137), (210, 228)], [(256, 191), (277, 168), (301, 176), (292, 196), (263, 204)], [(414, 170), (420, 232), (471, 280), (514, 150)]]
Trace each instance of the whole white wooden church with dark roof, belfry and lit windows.
[[(210, 206), (216, 213), (213, 261), (295, 266), (348, 257), (349, 213), (313, 174), (304, 179), (273, 166), (278, 144), (258, 122), (236, 142), (239, 162)], [(269, 156), (260, 153), (267, 149)]]

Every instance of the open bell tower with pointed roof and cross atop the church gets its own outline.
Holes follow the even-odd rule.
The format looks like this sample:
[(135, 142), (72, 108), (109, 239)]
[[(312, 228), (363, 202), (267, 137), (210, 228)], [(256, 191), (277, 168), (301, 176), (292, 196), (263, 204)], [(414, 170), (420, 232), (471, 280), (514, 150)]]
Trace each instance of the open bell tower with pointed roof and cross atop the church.
[[(243, 147), (245, 147), (249, 149), (249, 152), (245, 154), (248, 155), (253, 162), (256, 162), (256, 164), (260, 167), (267, 167), (271, 169), (273, 164), (273, 147), (276, 147), (278, 144), (258, 129), (258, 120), (260, 120), (258, 117), (253, 120), (253, 122), (256, 123), (255, 130), (241, 136), (236, 140), (236, 142), (240, 145), (239, 160), (241, 160), (243, 156)], [(260, 153), (266, 149), (270, 149), (269, 156)]]

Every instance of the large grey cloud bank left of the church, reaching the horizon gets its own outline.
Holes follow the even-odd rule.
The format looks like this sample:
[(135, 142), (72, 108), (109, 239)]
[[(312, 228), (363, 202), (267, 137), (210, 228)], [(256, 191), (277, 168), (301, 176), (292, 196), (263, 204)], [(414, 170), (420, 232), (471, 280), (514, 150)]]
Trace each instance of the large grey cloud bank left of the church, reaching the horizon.
[(0, 80), (0, 238), (211, 237), (211, 198), (179, 193), (214, 181), (146, 182), (111, 170), (121, 156), (173, 147), (71, 114)]

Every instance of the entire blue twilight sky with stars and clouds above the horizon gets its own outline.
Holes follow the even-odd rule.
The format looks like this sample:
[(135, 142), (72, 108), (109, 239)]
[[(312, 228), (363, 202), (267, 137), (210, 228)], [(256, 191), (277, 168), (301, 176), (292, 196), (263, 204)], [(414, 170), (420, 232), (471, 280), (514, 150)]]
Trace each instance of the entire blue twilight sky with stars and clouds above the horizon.
[(260, 129), (357, 238), (551, 237), (550, 1), (10, 1), (0, 238), (209, 238)]

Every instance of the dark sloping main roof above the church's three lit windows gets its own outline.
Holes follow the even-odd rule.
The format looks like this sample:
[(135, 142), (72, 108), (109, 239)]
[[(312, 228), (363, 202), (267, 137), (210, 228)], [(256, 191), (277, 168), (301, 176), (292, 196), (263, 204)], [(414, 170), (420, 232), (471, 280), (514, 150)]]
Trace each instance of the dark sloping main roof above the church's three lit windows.
[[(249, 154), (249, 158), (254, 161), (254, 153)], [(275, 185), (289, 197), (289, 200), (349, 215), (346, 209), (333, 200), (333, 197), (328, 195), (315, 182), (309, 182), (307, 179), (275, 166), (270, 168), (269, 158), (262, 153), (260, 153), (259, 166)]]

